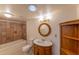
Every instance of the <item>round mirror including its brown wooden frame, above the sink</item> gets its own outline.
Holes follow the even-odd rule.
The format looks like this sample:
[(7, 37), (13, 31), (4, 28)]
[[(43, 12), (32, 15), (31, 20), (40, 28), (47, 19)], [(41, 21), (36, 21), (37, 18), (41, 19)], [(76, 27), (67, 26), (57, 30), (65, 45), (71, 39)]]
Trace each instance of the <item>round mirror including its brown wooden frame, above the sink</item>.
[(40, 35), (42, 36), (48, 36), (51, 33), (51, 28), (50, 25), (47, 23), (42, 23), (40, 24), (38, 31), (40, 33)]

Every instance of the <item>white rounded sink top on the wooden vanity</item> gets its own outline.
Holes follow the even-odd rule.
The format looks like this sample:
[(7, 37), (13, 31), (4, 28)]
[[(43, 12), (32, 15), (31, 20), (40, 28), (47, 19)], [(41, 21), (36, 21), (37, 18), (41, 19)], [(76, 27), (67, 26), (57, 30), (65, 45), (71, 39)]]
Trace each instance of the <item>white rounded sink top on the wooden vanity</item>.
[(52, 42), (45, 39), (35, 39), (33, 43), (39, 46), (52, 46)]

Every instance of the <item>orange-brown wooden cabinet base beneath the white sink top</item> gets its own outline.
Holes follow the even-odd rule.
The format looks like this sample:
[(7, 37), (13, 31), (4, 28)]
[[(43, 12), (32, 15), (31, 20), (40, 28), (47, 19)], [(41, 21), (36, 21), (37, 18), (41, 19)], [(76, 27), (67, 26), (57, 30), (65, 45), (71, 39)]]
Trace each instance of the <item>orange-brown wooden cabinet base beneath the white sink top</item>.
[(34, 55), (52, 55), (52, 46), (39, 46), (33, 44), (33, 54)]

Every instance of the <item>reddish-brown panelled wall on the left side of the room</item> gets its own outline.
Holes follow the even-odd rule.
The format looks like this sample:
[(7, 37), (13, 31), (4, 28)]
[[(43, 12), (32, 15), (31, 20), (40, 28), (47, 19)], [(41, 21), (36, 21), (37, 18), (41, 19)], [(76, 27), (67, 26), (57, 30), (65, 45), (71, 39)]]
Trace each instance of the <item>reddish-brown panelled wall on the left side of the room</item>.
[(0, 21), (0, 44), (26, 39), (26, 24), (17, 21)]

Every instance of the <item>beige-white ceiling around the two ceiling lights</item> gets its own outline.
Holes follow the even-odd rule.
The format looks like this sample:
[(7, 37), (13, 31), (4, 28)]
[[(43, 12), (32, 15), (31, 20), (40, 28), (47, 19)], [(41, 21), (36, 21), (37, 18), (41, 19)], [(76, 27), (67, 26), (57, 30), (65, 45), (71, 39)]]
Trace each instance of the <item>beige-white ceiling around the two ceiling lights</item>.
[[(51, 12), (64, 9), (64, 8), (71, 8), (76, 7), (76, 5), (37, 5), (37, 11), (30, 12), (28, 11), (28, 5), (26, 4), (0, 4), (0, 17), (6, 18), (3, 15), (3, 12), (6, 10), (10, 10), (10, 12), (14, 15), (14, 17), (10, 19), (15, 20), (22, 20), (25, 21), (26, 19), (34, 18), (35, 16), (39, 15), (40, 12), (45, 13), (47, 10)], [(7, 19), (7, 18), (6, 18)]]

